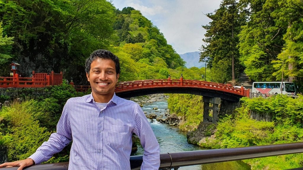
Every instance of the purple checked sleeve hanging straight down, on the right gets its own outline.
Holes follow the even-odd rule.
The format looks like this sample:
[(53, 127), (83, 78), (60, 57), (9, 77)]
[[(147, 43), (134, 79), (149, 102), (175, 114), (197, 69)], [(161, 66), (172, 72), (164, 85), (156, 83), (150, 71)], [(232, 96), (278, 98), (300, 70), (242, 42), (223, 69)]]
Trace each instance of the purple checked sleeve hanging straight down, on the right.
[(160, 167), (159, 143), (139, 105), (135, 109), (135, 119), (134, 133), (138, 135), (144, 148), (141, 170), (158, 170)]

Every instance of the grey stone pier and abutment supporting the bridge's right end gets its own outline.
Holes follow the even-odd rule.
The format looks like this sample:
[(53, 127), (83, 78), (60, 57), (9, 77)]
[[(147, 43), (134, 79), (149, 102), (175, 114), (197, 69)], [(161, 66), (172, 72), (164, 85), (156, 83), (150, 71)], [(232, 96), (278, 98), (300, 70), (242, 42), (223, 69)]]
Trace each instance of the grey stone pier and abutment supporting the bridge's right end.
[[(219, 97), (203, 96), (203, 122), (218, 122), (220, 116), (231, 115), (240, 102), (222, 100)], [(212, 111), (212, 114), (210, 112)]]

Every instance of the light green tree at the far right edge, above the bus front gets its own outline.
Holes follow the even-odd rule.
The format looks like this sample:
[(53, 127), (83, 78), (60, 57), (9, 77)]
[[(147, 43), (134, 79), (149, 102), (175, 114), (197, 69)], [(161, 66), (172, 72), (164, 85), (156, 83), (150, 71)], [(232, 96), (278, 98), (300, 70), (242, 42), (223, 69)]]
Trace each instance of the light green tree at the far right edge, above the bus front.
[(284, 48), (278, 54), (275, 64), (277, 79), (281, 78), (281, 62), (285, 64), (284, 75), (288, 76), (289, 81), (297, 81), (302, 74), (302, 55), (303, 55), (303, 24), (302, 12), (303, 2), (299, 0), (283, 0), (278, 2), (278, 7), (271, 13), (275, 18), (276, 26), (286, 29), (283, 39)]

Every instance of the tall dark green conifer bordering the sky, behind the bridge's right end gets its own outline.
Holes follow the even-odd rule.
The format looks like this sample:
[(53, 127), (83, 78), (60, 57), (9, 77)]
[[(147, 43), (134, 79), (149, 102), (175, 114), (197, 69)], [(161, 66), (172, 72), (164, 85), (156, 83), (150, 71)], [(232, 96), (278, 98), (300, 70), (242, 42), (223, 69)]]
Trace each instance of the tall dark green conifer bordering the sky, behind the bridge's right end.
[(200, 61), (207, 61), (211, 68), (220, 60), (230, 58), (231, 62), (225, 65), (226, 68), (231, 68), (228, 80), (235, 80), (235, 72), (238, 72), (241, 67), (238, 63), (237, 45), (241, 26), (245, 25), (245, 14), (237, 1), (224, 0), (215, 14), (206, 15), (212, 19), (210, 24), (202, 26), (207, 31), (206, 38), (203, 39), (206, 45), (201, 46)]

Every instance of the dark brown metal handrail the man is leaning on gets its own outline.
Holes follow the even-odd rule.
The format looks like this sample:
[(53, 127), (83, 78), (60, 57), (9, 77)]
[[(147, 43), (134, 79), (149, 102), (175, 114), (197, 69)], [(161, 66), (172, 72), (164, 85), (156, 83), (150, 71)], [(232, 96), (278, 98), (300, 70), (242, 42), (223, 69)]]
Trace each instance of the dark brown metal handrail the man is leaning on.
[[(287, 155), (303, 153), (303, 142), (248, 146), (228, 149), (210, 149), (186, 152), (173, 152), (160, 154), (160, 168), (170, 169), (181, 166), (201, 165), (216, 162), (236, 161), (243, 159), (261, 158), (267, 156)], [(142, 155), (131, 156), (130, 164), (132, 170), (139, 170), (143, 162)], [(5, 170), (16, 170), (18, 167), (4, 168)], [(32, 165), (27, 170), (67, 170), (68, 162)], [(295, 168), (291, 170), (302, 170)]]

